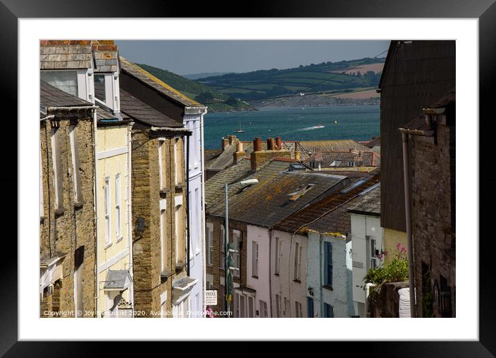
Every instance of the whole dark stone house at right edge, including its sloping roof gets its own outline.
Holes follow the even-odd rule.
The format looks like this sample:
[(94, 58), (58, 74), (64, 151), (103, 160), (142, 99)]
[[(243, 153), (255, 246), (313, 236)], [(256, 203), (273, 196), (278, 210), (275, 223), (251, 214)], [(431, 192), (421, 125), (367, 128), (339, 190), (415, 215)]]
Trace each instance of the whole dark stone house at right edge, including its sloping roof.
[[(416, 314), (454, 317), (456, 294), (455, 92), (400, 131), (409, 136)], [(442, 114), (441, 114), (442, 112)], [(439, 114), (437, 114), (439, 113)]]

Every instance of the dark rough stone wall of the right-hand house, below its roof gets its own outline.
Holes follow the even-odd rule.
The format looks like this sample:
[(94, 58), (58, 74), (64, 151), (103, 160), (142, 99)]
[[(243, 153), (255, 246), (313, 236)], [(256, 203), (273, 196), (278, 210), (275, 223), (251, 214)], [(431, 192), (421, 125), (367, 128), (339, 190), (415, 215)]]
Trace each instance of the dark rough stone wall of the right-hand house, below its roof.
[[(442, 122), (444, 116), (440, 117), (438, 123)], [(437, 297), (432, 300), (432, 310), (438, 317), (447, 314), (454, 317), (454, 127), (438, 124), (434, 137), (411, 138), (412, 237), (416, 262), (417, 316), (424, 316), (430, 311), (423, 307), (427, 299), (425, 294), (435, 296), (434, 287), (439, 287), (441, 292), (448, 286), (446, 291), (451, 296), (451, 312), (441, 312), (440, 299)]]

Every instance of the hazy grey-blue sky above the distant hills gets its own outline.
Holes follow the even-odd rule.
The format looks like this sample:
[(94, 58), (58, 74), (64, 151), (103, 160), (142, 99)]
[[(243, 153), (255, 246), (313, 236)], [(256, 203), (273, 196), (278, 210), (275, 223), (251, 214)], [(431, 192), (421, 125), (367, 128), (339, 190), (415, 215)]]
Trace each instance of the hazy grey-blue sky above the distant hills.
[(378, 40), (125, 40), (116, 44), (120, 55), (132, 62), (179, 75), (290, 69), (374, 57), (389, 47), (389, 41)]

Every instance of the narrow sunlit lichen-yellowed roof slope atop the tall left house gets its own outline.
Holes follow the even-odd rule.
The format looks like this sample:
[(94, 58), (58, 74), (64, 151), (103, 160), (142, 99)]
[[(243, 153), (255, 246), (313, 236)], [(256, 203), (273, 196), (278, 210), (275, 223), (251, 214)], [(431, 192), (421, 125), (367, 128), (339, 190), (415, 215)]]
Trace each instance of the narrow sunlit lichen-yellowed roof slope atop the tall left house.
[(139, 81), (147, 84), (149, 87), (152, 87), (156, 91), (159, 91), (169, 98), (172, 98), (173, 100), (179, 102), (181, 105), (184, 105), (186, 107), (203, 107), (197, 101), (184, 96), (183, 93), (177, 91), (177, 89), (173, 89), (162, 80), (159, 80), (151, 73), (148, 73), (147, 71), (142, 69), (140, 66), (130, 62), (122, 56), (119, 57), (119, 59), (121, 63), (121, 71), (124, 71), (128, 75), (131, 75)]

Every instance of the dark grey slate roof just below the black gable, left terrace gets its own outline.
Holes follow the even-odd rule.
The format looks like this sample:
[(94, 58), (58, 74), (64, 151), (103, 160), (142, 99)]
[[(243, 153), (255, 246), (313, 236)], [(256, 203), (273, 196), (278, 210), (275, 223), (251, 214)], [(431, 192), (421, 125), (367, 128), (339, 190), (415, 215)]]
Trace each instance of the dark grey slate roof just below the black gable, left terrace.
[(183, 123), (177, 122), (177, 120), (173, 120), (165, 114), (157, 111), (157, 109), (146, 105), (144, 102), (141, 102), (141, 100), (132, 96), (123, 89), (121, 89), (120, 93), (121, 111), (123, 111), (123, 113), (127, 116), (154, 127), (184, 127)]

